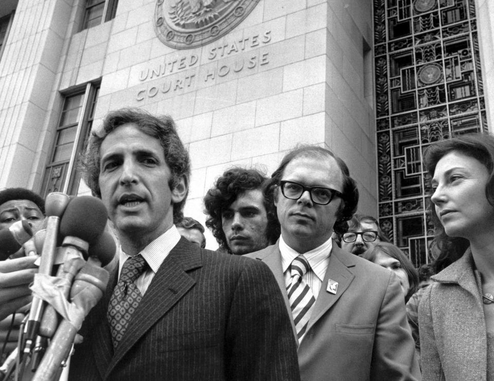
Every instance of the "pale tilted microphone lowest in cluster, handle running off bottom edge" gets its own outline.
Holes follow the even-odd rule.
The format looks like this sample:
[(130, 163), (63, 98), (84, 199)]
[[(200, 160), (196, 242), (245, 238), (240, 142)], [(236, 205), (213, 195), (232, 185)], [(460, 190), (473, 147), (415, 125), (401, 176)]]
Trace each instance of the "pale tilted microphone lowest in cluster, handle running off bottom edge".
[(107, 287), (109, 279), (108, 271), (104, 268), (87, 263), (76, 275), (70, 297), (72, 304), (77, 307), (77, 314), (73, 320), (63, 319), (57, 333), (51, 340), (41, 364), (32, 378), (33, 381), (46, 381), (54, 379), (59, 373), (60, 367), (68, 357), (72, 343), (82, 321), (89, 311), (101, 299)]

